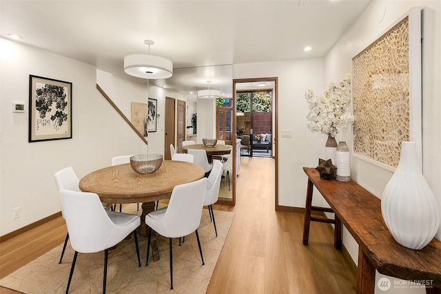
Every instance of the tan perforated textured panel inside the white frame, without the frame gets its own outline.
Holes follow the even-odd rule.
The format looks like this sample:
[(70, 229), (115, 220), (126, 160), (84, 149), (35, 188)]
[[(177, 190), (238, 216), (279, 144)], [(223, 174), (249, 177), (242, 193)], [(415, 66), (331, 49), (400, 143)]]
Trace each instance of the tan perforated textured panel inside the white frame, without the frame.
[(397, 167), (411, 140), (409, 17), (352, 59), (353, 151)]

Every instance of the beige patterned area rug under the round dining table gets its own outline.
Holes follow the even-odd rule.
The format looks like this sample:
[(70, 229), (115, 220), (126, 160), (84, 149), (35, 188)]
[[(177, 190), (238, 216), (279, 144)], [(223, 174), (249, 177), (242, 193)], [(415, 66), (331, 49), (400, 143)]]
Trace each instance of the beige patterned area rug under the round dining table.
[[(157, 236), (160, 260), (154, 262), (150, 252), (149, 265), (145, 266), (147, 237), (139, 236), (141, 267), (136, 260), (133, 238), (123, 240), (109, 251), (107, 267), (107, 293), (205, 293), (214, 266), (222, 251), (232, 224), (234, 213), (214, 211), (218, 237), (207, 209), (203, 209), (198, 229), (205, 265), (202, 265), (196, 235), (185, 237), (178, 246), (173, 240), (173, 286), (170, 290), (169, 242)], [(0, 280), (0, 286), (22, 293), (65, 293), (74, 251), (66, 247), (63, 263), (59, 258), (63, 244), (26, 264), (21, 269)], [(79, 253), (69, 293), (102, 293), (104, 253)]]

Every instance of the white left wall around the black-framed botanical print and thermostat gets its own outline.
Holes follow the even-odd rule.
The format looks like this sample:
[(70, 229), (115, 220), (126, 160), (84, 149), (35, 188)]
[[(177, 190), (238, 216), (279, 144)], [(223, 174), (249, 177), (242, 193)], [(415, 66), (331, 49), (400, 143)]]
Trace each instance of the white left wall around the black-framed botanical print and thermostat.
[[(96, 68), (0, 37), (0, 235), (61, 210), (54, 173), (79, 178), (145, 144), (96, 90)], [(29, 74), (72, 82), (72, 139), (28, 143)], [(126, 85), (129, 87), (129, 84)], [(132, 92), (132, 90), (127, 90)], [(124, 92), (121, 90), (121, 92)], [(12, 101), (25, 103), (12, 113)], [(12, 220), (12, 209), (22, 216)]]

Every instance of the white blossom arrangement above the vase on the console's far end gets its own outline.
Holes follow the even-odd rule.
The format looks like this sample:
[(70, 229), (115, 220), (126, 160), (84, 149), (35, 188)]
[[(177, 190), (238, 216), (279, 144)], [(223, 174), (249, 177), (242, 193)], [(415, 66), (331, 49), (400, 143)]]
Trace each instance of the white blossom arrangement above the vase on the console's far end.
[(311, 132), (321, 132), (335, 137), (338, 128), (348, 127), (353, 123), (351, 106), (351, 79), (344, 78), (340, 83), (329, 84), (321, 96), (307, 90), (305, 99), (309, 105), (307, 127)]

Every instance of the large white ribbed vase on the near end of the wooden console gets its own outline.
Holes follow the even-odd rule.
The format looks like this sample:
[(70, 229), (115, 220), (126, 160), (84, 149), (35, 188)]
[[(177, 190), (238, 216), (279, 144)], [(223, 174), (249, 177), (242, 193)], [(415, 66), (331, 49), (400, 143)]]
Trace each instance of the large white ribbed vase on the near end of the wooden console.
[(393, 238), (410, 249), (429, 244), (440, 216), (416, 154), (415, 142), (402, 142), (400, 162), (384, 188), (381, 213)]

